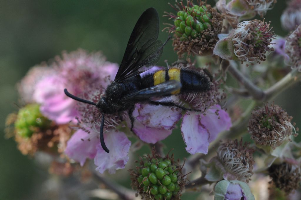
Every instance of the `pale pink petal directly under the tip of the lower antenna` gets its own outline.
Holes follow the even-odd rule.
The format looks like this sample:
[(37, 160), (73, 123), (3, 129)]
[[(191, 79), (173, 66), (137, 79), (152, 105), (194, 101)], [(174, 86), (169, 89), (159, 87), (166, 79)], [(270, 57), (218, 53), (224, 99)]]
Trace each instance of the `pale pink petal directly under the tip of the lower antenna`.
[(94, 158), (94, 163), (98, 166), (96, 170), (100, 173), (104, 173), (105, 170), (115, 173), (116, 170), (123, 169), (129, 161), (131, 141), (123, 132), (114, 130), (104, 133), (104, 141), (110, 153), (105, 152), (100, 143), (96, 146), (97, 154)]

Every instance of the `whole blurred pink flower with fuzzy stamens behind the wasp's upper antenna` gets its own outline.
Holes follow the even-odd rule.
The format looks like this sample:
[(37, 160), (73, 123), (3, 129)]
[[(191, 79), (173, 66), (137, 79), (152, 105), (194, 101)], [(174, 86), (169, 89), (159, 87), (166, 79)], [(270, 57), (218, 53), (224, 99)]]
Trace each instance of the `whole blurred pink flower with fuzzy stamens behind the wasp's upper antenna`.
[(35, 87), (34, 100), (41, 104), (43, 115), (58, 124), (76, 122), (76, 101), (64, 94), (64, 88), (76, 96), (87, 88), (106, 88), (114, 79), (118, 66), (105, 61), (100, 53), (84, 50), (63, 53), (52, 64), (56, 73), (43, 77)]

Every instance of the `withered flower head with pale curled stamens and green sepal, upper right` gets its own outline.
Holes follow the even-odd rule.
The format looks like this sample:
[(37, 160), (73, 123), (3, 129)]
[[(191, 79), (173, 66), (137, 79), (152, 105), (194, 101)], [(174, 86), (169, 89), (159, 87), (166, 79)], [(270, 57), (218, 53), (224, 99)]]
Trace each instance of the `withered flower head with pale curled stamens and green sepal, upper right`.
[(217, 42), (213, 53), (223, 59), (239, 60), (251, 64), (265, 61), (265, 53), (273, 51), (269, 45), (275, 38), (270, 23), (260, 20), (244, 21), (228, 37)]

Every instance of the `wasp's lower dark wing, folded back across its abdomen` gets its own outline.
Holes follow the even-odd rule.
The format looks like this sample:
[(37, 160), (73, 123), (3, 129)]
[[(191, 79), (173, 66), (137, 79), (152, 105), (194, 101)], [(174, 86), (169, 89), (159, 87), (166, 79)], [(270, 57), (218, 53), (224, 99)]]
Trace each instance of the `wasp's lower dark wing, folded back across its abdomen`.
[(169, 80), (149, 88), (141, 89), (123, 97), (124, 101), (143, 100), (156, 96), (170, 95), (170, 93), (181, 89), (181, 83), (176, 80)]

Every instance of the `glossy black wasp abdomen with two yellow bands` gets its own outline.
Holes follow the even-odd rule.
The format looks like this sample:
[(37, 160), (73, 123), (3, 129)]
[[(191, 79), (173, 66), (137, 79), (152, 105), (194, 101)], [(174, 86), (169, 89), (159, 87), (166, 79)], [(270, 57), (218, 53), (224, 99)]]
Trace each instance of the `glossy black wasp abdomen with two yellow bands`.
[(143, 88), (147, 88), (169, 80), (176, 80), (182, 84), (181, 89), (172, 92), (172, 95), (185, 92), (202, 92), (210, 89), (210, 81), (204, 74), (186, 68), (156, 71), (144, 76), (141, 84)]

